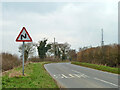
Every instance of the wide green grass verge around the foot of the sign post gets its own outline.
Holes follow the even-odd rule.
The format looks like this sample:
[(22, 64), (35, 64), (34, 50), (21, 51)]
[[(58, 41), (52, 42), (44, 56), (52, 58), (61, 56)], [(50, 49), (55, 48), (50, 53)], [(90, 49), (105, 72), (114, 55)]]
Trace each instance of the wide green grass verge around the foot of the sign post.
[(26, 76), (9, 77), (12, 72), (22, 71), (22, 67), (10, 70), (2, 76), (2, 88), (58, 88), (55, 81), (43, 67), (46, 63), (49, 62), (27, 64), (25, 66)]

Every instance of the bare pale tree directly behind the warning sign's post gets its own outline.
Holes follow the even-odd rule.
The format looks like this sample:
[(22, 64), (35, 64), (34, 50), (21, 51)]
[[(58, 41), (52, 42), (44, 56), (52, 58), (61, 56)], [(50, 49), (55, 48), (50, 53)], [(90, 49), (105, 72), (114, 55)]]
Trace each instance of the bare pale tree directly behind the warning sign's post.
[[(21, 53), (21, 57), (22, 55), (22, 44), (19, 46), (19, 52)], [(24, 44), (24, 60), (27, 61), (28, 57), (32, 56), (35, 52), (35, 47), (33, 45), (33, 43), (25, 43)]]

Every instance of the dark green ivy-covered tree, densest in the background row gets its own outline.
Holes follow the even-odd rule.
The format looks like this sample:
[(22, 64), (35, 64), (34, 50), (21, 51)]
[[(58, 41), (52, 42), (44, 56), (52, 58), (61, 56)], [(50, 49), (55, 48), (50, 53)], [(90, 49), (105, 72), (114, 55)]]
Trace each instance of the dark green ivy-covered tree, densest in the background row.
[(39, 57), (44, 59), (46, 57), (47, 51), (51, 49), (51, 44), (47, 44), (47, 39), (41, 40), (39, 41), (37, 49)]

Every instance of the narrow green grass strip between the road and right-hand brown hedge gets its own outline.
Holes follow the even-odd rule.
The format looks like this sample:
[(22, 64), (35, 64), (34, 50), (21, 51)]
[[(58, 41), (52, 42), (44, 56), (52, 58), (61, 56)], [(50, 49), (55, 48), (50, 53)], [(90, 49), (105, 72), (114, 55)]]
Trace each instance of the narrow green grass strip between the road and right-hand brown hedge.
[(75, 61), (71, 62), (71, 64), (85, 66), (85, 67), (89, 67), (89, 68), (93, 68), (93, 69), (97, 69), (97, 70), (102, 70), (102, 71), (106, 71), (106, 72), (111, 72), (111, 73), (115, 73), (115, 74), (120, 74), (120, 71), (119, 71), (120, 69), (109, 67), (109, 66), (83, 63), (83, 62), (75, 62)]

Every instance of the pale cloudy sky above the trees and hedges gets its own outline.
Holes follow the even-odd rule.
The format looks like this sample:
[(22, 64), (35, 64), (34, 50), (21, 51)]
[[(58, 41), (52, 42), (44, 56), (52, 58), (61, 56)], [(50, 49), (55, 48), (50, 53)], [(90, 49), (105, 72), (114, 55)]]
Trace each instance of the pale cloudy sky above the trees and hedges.
[[(72, 49), (118, 43), (117, 2), (3, 2), (2, 49), (20, 55), (16, 38), (25, 27), (37, 43), (43, 38), (69, 43)], [(0, 46), (0, 47), (1, 47)]]

